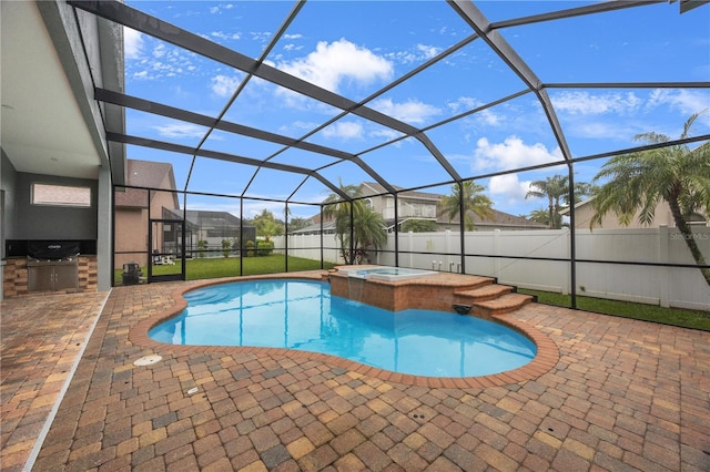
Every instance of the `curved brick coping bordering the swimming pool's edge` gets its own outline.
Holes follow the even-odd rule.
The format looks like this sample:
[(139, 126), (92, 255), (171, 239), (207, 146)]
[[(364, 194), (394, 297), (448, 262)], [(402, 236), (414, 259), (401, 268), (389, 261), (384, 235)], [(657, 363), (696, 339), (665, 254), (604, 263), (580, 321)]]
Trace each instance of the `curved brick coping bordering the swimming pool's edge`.
[[(324, 281), (324, 277), (327, 277), (327, 271), (301, 271), (301, 273), (285, 273), (285, 274), (268, 274), (258, 276), (242, 276), (230, 277), (221, 279), (211, 279), (203, 283), (191, 284), (184, 287), (180, 287), (172, 291), (173, 306), (164, 311), (151, 316), (135, 324), (129, 330), (129, 340), (135, 345), (153, 349), (154, 351), (169, 351), (178, 355), (187, 355), (195, 352), (224, 352), (231, 353), (252, 353), (252, 355), (267, 355), (287, 357), (296, 361), (320, 361), (334, 367), (341, 367), (353, 372), (357, 372), (363, 376), (369, 376), (377, 378), (386, 382), (398, 382), (403, 384), (428, 387), (428, 388), (487, 388), (487, 387), (501, 387), (511, 383), (520, 383), (529, 380), (535, 380), (550, 371), (559, 361), (559, 349), (555, 341), (552, 341), (547, 335), (539, 329), (530, 326), (524, 321), (520, 321), (514, 317), (515, 311), (504, 315), (494, 315), (490, 319), (511, 328), (524, 336), (527, 336), (537, 346), (537, 355), (535, 358), (514, 370), (508, 370), (500, 373), (493, 373), (488, 376), (478, 377), (425, 377), (414, 376), (408, 373), (393, 372), (389, 370), (379, 369), (376, 367), (367, 366), (356, 362), (354, 360), (329, 356), (320, 352), (300, 351), (295, 349), (285, 348), (266, 348), (266, 347), (245, 347), (245, 346), (182, 346), (182, 345), (169, 345), (165, 342), (159, 342), (151, 339), (148, 334), (156, 325), (175, 317), (182, 310), (187, 307), (187, 301), (183, 295), (187, 291), (204, 288), (213, 285), (229, 284), (234, 281), (248, 281), (258, 279), (302, 279), (313, 281)], [(473, 316), (473, 315), (470, 315)]]

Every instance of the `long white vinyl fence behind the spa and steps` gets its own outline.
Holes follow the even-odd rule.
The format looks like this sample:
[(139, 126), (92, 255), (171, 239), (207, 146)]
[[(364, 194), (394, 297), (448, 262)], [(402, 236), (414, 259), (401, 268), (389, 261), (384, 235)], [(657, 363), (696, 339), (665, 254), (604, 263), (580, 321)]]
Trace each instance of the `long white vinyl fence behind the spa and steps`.
[[(576, 285), (578, 295), (639, 301), (665, 307), (710, 310), (710, 287), (697, 268), (656, 267), (616, 263), (694, 265), (682, 235), (677, 228), (577, 229)], [(466, 273), (496, 277), (501, 284), (546, 291), (571, 291), (568, 260), (569, 229), (469, 232), (465, 233)], [(692, 228), (692, 237), (710, 263), (710, 228)], [(273, 238), (284, 248), (284, 237)], [(323, 236), (323, 246), (337, 247), (334, 235)], [(395, 264), (395, 236), (373, 264)], [(288, 254), (310, 259), (321, 258), (320, 235), (288, 237)], [(342, 264), (337, 249), (324, 249), (324, 259)], [(606, 260), (609, 264), (582, 260)], [(399, 234), (399, 266), (444, 271), (460, 270), (459, 233)]]

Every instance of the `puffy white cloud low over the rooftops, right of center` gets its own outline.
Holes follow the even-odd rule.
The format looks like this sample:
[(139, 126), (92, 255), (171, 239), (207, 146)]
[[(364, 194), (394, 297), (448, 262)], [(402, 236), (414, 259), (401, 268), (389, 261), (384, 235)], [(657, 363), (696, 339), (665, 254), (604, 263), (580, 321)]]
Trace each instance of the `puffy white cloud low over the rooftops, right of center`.
[(471, 167), (475, 171), (509, 170), (561, 160), (562, 153), (559, 147), (549, 151), (542, 143), (525, 144), (517, 136), (508, 136), (503, 143), (490, 143), (486, 137), (481, 137), (476, 143)]

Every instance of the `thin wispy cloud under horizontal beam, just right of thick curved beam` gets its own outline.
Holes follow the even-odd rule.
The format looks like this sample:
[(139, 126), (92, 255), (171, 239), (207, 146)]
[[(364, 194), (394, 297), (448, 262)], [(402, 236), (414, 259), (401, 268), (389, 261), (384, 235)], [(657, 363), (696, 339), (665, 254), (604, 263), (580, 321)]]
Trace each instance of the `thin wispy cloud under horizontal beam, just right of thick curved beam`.
[(591, 94), (589, 92), (561, 92), (550, 95), (555, 110), (569, 114), (599, 115), (628, 114), (641, 106), (642, 100), (633, 92)]

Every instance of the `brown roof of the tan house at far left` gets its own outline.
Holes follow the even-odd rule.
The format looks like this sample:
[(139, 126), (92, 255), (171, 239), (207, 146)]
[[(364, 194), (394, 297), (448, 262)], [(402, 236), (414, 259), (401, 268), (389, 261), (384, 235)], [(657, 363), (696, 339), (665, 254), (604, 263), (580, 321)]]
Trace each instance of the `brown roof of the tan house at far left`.
[[(168, 177), (168, 186), (163, 184)], [(151, 161), (128, 161), (128, 186), (143, 188), (175, 189), (175, 176), (172, 164)], [(115, 192), (115, 206), (148, 208), (148, 191), (143, 188), (125, 188)], [(175, 208), (180, 207), (178, 194), (174, 195)]]

